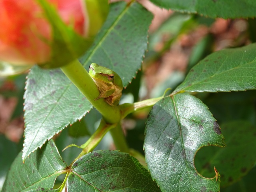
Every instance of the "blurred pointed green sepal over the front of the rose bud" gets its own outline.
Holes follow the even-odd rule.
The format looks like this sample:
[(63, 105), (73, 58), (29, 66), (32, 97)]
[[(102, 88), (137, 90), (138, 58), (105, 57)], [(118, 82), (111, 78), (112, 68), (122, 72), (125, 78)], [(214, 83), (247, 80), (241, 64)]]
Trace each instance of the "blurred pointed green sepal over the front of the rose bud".
[(84, 38), (77, 34), (74, 29), (67, 26), (56, 9), (44, 0), (37, 0), (44, 11), (52, 30), (52, 41), (48, 42), (51, 47), (51, 58), (48, 62), (40, 64), (41, 68), (57, 68), (64, 66), (80, 57), (93, 42), (93, 38)]

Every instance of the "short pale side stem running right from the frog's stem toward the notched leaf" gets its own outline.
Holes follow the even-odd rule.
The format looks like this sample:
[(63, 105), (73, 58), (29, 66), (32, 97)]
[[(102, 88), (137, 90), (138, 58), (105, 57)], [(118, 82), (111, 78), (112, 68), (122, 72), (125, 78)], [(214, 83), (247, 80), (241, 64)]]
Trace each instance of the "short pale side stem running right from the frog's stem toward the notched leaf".
[(120, 108), (121, 114), (122, 114), (121, 118), (122, 119), (125, 118), (128, 114), (132, 112), (152, 107), (154, 104), (156, 104), (156, 102), (158, 102), (162, 98), (164, 98), (164, 96), (147, 99), (147, 100), (143, 100), (135, 103), (124, 103), (122, 105), (119, 105), (118, 107)]

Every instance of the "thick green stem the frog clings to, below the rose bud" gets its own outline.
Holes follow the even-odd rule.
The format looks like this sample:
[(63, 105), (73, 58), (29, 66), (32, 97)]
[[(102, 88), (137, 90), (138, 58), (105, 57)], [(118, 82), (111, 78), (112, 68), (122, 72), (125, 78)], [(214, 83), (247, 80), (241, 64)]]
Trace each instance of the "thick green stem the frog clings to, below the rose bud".
[(91, 76), (84, 69), (78, 60), (62, 66), (62, 72), (70, 79), (72, 83), (84, 94), (89, 102), (102, 114), (104, 120), (109, 124), (120, 121), (120, 110), (117, 106), (110, 106), (103, 98), (94, 100), (100, 94), (96, 84)]

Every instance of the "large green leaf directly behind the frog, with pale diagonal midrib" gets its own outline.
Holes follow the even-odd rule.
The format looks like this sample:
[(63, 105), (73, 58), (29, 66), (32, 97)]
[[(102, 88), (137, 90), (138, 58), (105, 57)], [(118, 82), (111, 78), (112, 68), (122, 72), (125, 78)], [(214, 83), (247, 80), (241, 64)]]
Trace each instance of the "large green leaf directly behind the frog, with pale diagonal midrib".
[(80, 62), (86, 69), (91, 63), (110, 68), (122, 78), (126, 87), (141, 67), (152, 18), (152, 14), (138, 3), (112, 4), (102, 30)]

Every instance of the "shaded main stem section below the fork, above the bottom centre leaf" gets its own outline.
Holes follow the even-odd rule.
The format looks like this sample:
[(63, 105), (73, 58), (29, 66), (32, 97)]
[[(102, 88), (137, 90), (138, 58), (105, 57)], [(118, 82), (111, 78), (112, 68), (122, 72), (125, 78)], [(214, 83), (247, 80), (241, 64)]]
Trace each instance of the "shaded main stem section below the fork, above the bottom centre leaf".
[(118, 124), (114, 129), (110, 130), (110, 133), (112, 135), (112, 138), (114, 140), (116, 150), (120, 150), (122, 152), (129, 153), (129, 147), (126, 143), (124, 132), (122, 131), (122, 127), (120, 124)]

